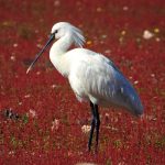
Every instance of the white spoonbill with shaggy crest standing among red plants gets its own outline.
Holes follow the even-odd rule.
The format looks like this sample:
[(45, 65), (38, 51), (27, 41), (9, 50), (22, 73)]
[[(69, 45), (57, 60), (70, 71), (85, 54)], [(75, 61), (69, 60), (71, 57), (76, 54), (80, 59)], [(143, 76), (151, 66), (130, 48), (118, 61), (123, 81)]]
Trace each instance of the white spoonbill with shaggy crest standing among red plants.
[(82, 31), (68, 22), (53, 25), (48, 41), (36, 54), (26, 74), (52, 42), (50, 50), (52, 64), (68, 79), (78, 101), (89, 102), (92, 118), (88, 151), (92, 146), (94, 131), (97, 150), (100, 131), (99, 107), (122, 108), (140, 117), (144, 112), (141, 99), (132, 84), (110, 58), (82, 47), (86, 42)]

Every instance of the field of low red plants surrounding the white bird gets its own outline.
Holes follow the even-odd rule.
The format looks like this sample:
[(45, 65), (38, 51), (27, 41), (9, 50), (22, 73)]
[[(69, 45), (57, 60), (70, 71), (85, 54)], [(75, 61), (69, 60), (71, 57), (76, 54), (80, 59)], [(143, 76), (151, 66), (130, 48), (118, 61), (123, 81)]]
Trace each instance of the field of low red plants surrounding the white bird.
[[(99, 152), (87, 152), (90, 110), (52, 66), (25, 72), (52, 25), (80, 28), (138, 89), (143, 118), (100, 108)], [(7, 117), (11, 109), (20, 118)], [(0, 164), (165, 164), (164, 0), (0, 0)]]

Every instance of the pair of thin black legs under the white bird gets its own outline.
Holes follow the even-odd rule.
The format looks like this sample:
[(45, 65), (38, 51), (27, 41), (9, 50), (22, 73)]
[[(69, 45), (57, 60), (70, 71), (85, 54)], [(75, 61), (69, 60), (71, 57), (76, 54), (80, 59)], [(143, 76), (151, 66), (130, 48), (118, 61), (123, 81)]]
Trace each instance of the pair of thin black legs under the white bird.
[(96, 128), (96, 148), (98, 146), (99, 142), (99, 128), (100, 128), (100, 117), (98, 111), (98, 106), (90, 102), (91, 113), (92, 113), (92, 121), (91, 121), (91, 130), (89, 135), (89, 142), (88, 142), (88, 150), (91, 148), (91, 142), (92, 142), (92, 134), (94, 130)]

